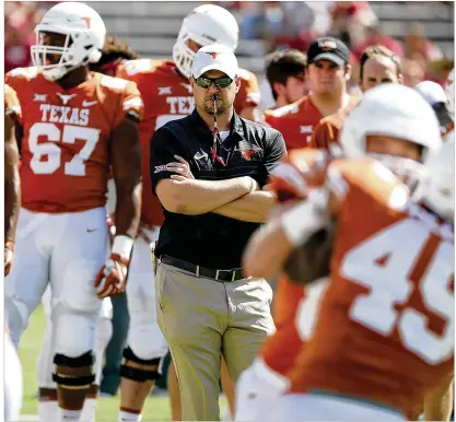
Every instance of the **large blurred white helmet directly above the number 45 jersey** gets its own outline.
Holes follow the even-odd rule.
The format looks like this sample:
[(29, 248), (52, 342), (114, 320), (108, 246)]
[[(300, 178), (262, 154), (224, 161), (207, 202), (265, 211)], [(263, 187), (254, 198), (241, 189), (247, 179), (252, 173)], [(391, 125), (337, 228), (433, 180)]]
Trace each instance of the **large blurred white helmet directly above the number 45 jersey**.
[[(421, 162), (366, 151), (367, 136), (385, 136), (422, 146)], [(424, 160), (442, 145), (439, 120), (428, 102), (413, 89), (387, 83), (367, 91), (347, 116), (340, 146), (348, 157), (371, 155), (414, 189), (426, 177)]]

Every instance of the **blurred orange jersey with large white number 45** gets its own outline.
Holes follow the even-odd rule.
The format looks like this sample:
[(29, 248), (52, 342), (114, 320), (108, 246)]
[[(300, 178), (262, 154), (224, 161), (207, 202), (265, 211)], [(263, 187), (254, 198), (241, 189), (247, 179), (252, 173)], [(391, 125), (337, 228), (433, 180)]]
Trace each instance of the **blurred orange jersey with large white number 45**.
[(306, 343), (291, 391), (346, 395), (411, 418), (453, 372), (453, 227), (374, 160), (339, 160), (327, 174), (331, 273), (324, 289), (306, 289), (317, 316), (297, 318)]

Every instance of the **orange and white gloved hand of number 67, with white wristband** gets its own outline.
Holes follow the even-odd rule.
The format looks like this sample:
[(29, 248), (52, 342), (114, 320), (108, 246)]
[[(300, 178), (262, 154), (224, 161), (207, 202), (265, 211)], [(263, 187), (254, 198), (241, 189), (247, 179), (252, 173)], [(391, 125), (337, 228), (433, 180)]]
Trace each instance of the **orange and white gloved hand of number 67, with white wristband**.
[(114, 237), (110, 256), (95, 278), (96, 297), (102, 300), (125, 292), (132, 247), (133, 239), (129, 236)]

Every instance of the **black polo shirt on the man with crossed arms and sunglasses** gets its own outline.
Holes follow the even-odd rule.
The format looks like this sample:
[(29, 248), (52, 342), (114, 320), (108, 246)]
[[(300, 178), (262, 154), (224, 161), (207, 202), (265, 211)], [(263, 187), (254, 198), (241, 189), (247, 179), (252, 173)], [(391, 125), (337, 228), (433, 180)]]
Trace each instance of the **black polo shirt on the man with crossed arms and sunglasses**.
[[(161, 179), (169, 178), (166, 164), (180, 155), (190, 165), (196, 179), (224, 180), (250, 176), (262, 187), (271, 169), (287, 154), (282, 134), (272, 128), (246, 120), (234, 114), (229, 137), (218, 148), (226, 166), (213, 163), (212, 132), (197, 110), (162, 126), (151, 140), (152, 190)], [(174, 258), (211, 269), (241, 267), (244, 248), (259, 226), (208, 212), (185, 215), (164, 210), (156, 256)]]

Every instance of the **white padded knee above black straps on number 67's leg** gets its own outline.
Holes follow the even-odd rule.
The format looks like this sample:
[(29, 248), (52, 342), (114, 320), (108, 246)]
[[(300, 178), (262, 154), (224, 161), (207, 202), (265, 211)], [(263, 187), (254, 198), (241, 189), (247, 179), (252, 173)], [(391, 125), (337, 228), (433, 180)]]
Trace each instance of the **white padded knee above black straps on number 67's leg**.
[(52, 309), (56, 353), (77, 357), (95, 347), (98, 313), (81, 314), (59, 304)]

